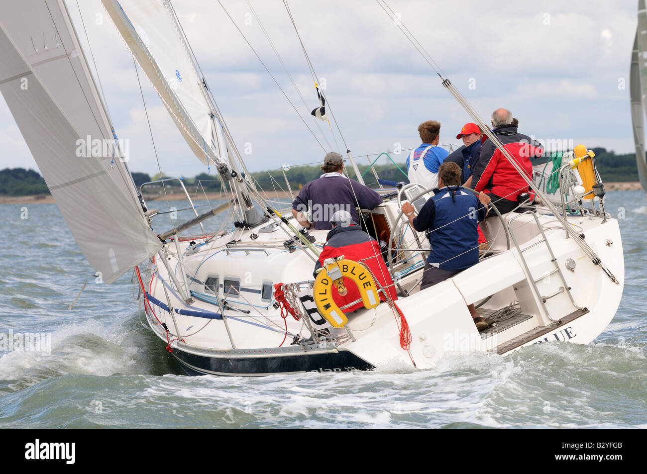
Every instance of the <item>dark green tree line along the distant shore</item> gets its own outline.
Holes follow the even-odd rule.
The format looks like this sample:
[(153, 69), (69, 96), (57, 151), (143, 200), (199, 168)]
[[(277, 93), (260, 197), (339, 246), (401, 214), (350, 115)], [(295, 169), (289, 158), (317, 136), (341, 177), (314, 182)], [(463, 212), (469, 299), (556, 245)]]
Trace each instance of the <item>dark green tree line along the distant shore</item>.
[[(603, 180), (606, 182), (628, 182), (638, 180), (638, 171), (636, 167), (636, 158), (633, 153), (626, 155), (616, 155), (613, 151), (607, 151), (602, 147), (593, 148), (595, 153), (595, 163), (598, 172)], [(540, 164), (543, 161), (536, 160), (533, 164)], [(358, 165), (360, 173), (364, 175), (364, 180), (367, 185), (376, 184), (375, 175), (372, 171), (367, 171), (368, 165)], [(399, 164), (401, 169), (406, 171), (406, 164)], [(351, 167), (349, 175), (351, 178), (356, 178), (355, 173)], [(406, 181), (406, 175), (398, 169), (394, 164), (375, 165), (375, 171), (380, 179), (390, 181)], [(320, 177), (322, 171), (319, 166), (293, 166), (285, 172), (292, 190), (300, 189), (303, 184), (310, 182)], [(148, 181), (157, 180), (160, 178), (159, 173), (152, 177), (148, 173), (132, 173), (135, 186), (139, 186)], [(285, 178), (283, 177), (283, 170), (281, 168), (272, 171), (259, 171), (251, 173), (257, 186), (265, 191), (280, 191), (281, 189), (287, 191)], [(201, 191), (200, 186), (207, 192), (218, 192), (221, 190), (221, 183), (217, 174), (200, 173), (193, 178), (182, 177), (187, 188), (197, 188)], [(198, 184), (199, 182), (199, 184)], [(169, 188), (179, 187), (179, 184), (173, 181), (167, 182), (165, 186)], [(49, 194), (49, 189), (45, 184), (45, 180), (41, 175), (32, 169), (23, 168), (5, 168), (0, 171), (0, 195), (5, 196), (25, 196), (34, 194)]]

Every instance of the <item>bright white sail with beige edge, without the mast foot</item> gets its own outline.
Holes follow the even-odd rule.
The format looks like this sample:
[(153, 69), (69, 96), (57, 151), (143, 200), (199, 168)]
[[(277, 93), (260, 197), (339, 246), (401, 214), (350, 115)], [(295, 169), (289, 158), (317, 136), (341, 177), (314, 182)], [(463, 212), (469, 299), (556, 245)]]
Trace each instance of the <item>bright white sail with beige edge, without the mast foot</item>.
[(195, 156), (226, 160), (226, 145), (188, 45), (166, 0), (102, 0)]

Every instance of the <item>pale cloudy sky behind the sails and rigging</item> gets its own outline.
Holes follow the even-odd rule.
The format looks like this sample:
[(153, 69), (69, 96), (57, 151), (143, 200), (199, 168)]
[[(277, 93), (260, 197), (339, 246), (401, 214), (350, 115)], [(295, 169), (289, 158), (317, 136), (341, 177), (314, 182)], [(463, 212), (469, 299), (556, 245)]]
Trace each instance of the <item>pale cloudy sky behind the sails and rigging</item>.
[[(129, 140), (131, 171), (159, 171), (133, 59), (99, 0), (66, 0), (87, 52), (80, 17), (120, 139)], [(309, 114), (318, 105), (314, 83), (280, 0), (222, 0), (236, 25), (283, 87), (286, 100), (217, 1), (174, 0), (195, 56), (249, 171), (322, 162), (344, 141), (360, 164), (383, 151), (396, 162), (420, 144), (417, 126), (441, 122), (441, 145), (470, 117), (375, 0), (291, 0), (303, 44), (325, 86), (338, 132)], [(629, 70), (637, 1), (389, 0), (389, 6), (489, 122), (505, 107), (519, 130), (542, 140), (573, 140), (589, 149), (633, 153)], [(272, 52), (251, 5), (304, 105)], [(80, 11), (79, 11), (80, 10)], [(89, 55), (87, 55), (89, 56)], [(162, 171), (193, 177), (206, 172), (162, 102), (142, 76)], [(0, 169), (38, 169), (0, 96)], [(399, 151), (401, 150), (401, 151)], [(386, 156), (380, 164), (386, 163)]]

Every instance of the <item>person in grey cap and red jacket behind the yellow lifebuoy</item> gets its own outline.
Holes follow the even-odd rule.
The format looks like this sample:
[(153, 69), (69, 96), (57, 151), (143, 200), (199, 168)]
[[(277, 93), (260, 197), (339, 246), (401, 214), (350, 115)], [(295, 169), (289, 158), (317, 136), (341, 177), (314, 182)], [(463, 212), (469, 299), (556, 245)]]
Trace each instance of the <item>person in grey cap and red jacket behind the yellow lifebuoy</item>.
[[(371, 270), (376, 283), (379, 283), (379, 285), (382, 285), (388, 290), (391, 299), (397, 299), (398, 296), (393, 287), (391, 274), (389, 274), (389, 270), (384, 264), (382, 251), (377, 241), (353, 221), (353, 217), (348, 211), (336, 211), (330, 222), (333, 225), (333, 230), (326, 237), (326, 242), (321, 255), (319, 255), (319, 260), (314, 266), (314, 270), (316, 271), (323, 266), (325, 259), (344, 255), (344, 258), (347, 260), (364, 263)], [(344, 296), (338, 294), (337, 289), (333, 286), (333, 300), (340, 308), (361, 297), (355, 283), (351, 279), (344, 278), (344, 283), (348, 290)], [(386, 301), (387, 299), (386, 295), (382, 292), (380, 292), (380, 299), (382, 301)], [(360, 301), (351, 307), (345, 308), (344, 312), (355, 311), (363, 306), (364, 303)]]

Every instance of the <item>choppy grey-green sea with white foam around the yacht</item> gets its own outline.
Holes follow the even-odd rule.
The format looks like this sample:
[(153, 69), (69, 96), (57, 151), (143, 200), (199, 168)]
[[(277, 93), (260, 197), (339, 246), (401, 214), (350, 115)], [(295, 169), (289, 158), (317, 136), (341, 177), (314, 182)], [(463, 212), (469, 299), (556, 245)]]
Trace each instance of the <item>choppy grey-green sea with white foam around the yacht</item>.
[[(620, 220), (629, 261), (620, 308), (592, 344), (547, 343), (505, 357), (449, 354), (422, 371), (394, 364), (264, 378), (180, 375), (140, 325), (129, 275), (110, 287), (90, 281), (67, 310), (92, 270), (52, 217), (56, 207), (32, 206), (25, 249), (0, 254), (0, 332), (50, 334), (51, 354), (0, 356), (0, 420), (6, 427), (647, 427), (647, 206), (639, 191), (608, 197), (608, 208), (622, 204), (631, 215)], [(47, 217), (39, 220), (40, 212)], [(22, 224), (8, 230), (12, 241), (21, 241)], [(53, 266), (43, 263), (45, 253)]]

